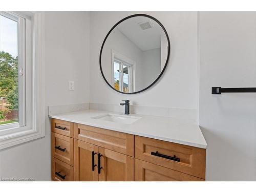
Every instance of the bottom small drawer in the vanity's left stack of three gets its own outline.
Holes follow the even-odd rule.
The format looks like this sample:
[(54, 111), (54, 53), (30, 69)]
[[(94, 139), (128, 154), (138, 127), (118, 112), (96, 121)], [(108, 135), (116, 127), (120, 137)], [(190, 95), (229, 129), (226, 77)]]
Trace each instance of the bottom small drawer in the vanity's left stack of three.
[(52, 180), (74, 181), (74, 167), (52, 157)]

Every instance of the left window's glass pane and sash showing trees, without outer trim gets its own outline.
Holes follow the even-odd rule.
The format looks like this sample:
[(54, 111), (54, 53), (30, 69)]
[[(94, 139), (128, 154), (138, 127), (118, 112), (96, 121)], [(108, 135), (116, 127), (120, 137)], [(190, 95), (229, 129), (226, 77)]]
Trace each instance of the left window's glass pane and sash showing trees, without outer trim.
[(25, 125), (23, 119), (24, 18), (0, 14), (0, 129)]

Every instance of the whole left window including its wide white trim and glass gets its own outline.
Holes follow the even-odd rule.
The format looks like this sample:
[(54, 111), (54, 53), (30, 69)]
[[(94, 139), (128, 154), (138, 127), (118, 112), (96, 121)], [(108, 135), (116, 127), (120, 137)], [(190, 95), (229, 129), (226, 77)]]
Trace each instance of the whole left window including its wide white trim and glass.
[(42, 13), (0, 11), (0, 150), (45, 135)]

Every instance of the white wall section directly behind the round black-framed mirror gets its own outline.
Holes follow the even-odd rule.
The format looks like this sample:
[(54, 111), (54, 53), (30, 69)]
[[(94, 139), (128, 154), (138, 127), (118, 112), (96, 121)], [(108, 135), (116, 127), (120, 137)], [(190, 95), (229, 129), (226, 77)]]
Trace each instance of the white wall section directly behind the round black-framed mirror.
[[(153, 89), (124, 95), (105, 83), (99, 70), (99, 51), (109, 30), (123, 17), (146, 13), (165, 26), (171, 42), (168, 67)], [(132, 104), (167, 108), (197, 109), (197, 12), (91, 12), (91, 89), (90, 102)], [(104, 93), (104, 94), (102, 94)]]

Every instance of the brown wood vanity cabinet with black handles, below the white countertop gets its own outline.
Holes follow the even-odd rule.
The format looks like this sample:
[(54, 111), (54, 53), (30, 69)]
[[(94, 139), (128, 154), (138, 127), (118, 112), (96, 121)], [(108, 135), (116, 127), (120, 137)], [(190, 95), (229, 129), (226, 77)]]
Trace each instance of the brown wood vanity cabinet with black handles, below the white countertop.
[(203, 148), (52, 119), (53, 181), (204, 181), (205, 156)]

